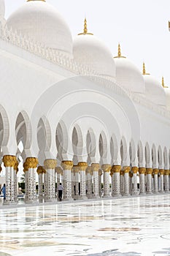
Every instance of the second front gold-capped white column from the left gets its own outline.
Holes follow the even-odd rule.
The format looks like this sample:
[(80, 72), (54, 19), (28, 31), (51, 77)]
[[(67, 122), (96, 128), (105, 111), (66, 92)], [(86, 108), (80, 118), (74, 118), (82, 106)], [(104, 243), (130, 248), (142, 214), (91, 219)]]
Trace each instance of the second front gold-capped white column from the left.
[(27, 157), (23, 164), (26, 174), (26, 203), (33, 203), (36, 200), (36, 167), (38, 159), (36, 157)]

